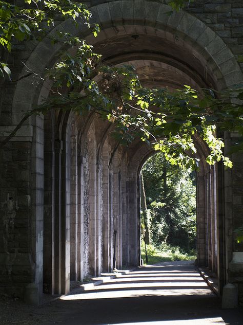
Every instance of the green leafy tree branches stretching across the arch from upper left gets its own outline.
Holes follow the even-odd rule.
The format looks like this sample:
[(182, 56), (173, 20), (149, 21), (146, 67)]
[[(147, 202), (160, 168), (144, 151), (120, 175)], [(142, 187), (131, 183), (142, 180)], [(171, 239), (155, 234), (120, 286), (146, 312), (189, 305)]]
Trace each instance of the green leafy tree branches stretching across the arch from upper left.
[[(169, 2), (173, 10), (179, 10), (188, 2)], [(7, 52), (16, 42), (41, 41), (50, 38), (50, 29), (58, 22), (69, 19), (73, 24), (82, 20), (92, 29), (94, 36), (99, 27), (90, 25), (90, 11), (83, 4), (71, 0), (24, 0), (22, 6), (0, 2), (0, 44), (6, 60), (0, 63), (2, 78), (11, 80), (7, 65)], [(243, 134), (241, 85), (217, 94), (213, 89), (202, 89), (199, 94), (190, 86), (172, 92), (168, 88), (145, 88), (132, 66), (113, 66), (105, 62), (85, 40), (63, 31), (52, 35), (51, 41), (75, 48), (73, 54), (65, 50), (45, 76), (53, 81), (47, 100), (27, 112), (15, 131), (7, 137), (0, 148), (14, 136), (16, 130), (32, 114), (45, 114), (51, 109), (71, 110), (78, 115), (94, 112), (114, 123), (114, 137), (121, 145), (127, 145), (135, 137), (164, 152), (171, 164), (197, 166), (196, 136), (209, 148), (208, 164), (222, 160), (232, 167), (224, 155), (224, 142), (217, 135), (222, 131)], [(29, 76), (34, 71), (27, 73)], [(98, 76), (98, 81), (94, 77)], [(24, 78), (25, 76), (21, 76)], [(242, 150), (242, 142), (236, 144)], [(189, 153), (189, 154), (188, 154)]]

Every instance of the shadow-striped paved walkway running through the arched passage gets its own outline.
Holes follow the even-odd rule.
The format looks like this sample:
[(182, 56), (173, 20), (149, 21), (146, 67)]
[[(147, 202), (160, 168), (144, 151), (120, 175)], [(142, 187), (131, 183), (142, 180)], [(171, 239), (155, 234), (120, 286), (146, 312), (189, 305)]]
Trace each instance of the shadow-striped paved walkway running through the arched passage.
[(191, 262), (140, 267), (88, 291), (75, 291), (59, 304), (55, 323), (62, 325), (243, 325), (243, 310), (221, 310), (220, 300)]

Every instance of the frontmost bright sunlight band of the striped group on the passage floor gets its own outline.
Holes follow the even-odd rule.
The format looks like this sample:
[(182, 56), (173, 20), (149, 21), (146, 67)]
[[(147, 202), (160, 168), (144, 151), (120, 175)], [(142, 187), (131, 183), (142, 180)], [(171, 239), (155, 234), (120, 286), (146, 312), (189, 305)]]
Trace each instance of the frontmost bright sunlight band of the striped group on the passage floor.
[[(105, 291), (105, 292), (84, 292), (81, 294), (62, 296), (62, 300), (88, 300), (88, 299), (110, 299), (110, 298), (129, 298), (129, 297), (153, 297), (153, 296), (192, 296), (192, 295), (211, 295), (208, 288), (205, 289), (170, 289), (170, 290), (126, 290), (126, 291)], [(152, 324), (152, 323), (151, 323)]]

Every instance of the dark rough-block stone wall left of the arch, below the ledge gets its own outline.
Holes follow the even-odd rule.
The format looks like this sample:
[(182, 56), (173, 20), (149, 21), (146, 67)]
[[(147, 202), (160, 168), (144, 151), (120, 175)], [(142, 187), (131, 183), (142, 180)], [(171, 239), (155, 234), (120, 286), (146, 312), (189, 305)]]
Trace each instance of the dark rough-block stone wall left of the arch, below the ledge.
[[(33, 280), (31, 245), (31, 143), (11, 142), (0, 164), (0, 286), (23, 295)], [(15, 283), (11, 287), (11, 283)]]

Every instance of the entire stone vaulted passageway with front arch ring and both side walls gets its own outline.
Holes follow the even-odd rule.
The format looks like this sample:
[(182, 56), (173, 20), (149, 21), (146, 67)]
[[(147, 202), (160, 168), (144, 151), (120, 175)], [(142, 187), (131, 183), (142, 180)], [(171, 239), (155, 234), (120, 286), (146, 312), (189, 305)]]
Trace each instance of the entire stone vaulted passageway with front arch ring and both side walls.
[[(160, 1), (92, 3), (92, 22), (100, 25), (97, 38), (82, 22), (74, 27), (67, 20), (54, 29), (86, 38), (110, 64), (132, 64), (143, 85), (174, 89), (188, 84), (220, 91), (242, 81), (229, 46), (198, 17), (184, 10), (168, 15), (170, 7)], [(64, 45), (44, 39), (30, 48), (26, 65), (41, 75), (58, 61)], [(32, 76), (19, 79), (8, 106), (11, 127), (47, 98), (51, 87), (48, 82), (36, 86)], [(139, 139), (120, 146), (112, 124), (92, 113), (78, 116), (58, 108), (45, 117), (32, 116), (13, 138), (8, 150), (17, 163), (11, 164), (16, 170), (24, 164), (25, 170), (16, 174), (15, 182), (1, 180), (3, 224), (15, 214), (21, 223), (16, 238), (3, 230), (5, 290), (33, 303), (42, 300), (43, 289), (67, 294), (70, 281), (111, 272), (114, 252), (117, 268), (140, 263), (139, 172), (153, 149)], [(225, 132), (222, 137), (227, 153), (237, 135)], [(208, 148), (200, 138), (196, 149), (197, 263), (217, 274), (221, 289), (236, 281), (229, 263), (232, 257), (233, 264), (238, 261), (242, 250), (233, 231), (242, 222), (242, 189), (237, 184), (242, 156), (235, 155), (235, 169), (225, 171), (220, 163), (205, 163)], [(3, 157), (1, 166), (9, 175), (9, 152)], [(10, 201), (20, 202), (20, 210)], [(26, 236), (24, 244), (19, 245), (19, 236)]]

